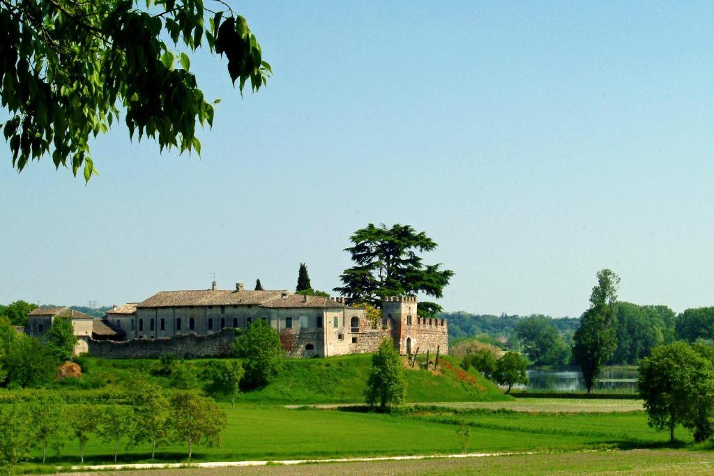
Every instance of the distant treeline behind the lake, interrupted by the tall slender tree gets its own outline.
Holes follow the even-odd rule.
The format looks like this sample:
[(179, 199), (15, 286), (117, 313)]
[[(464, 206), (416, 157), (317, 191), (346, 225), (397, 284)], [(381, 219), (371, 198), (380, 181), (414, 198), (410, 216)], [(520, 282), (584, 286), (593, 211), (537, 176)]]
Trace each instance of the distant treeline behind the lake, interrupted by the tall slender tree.
[[(543, 364), (568, 364), (570, 353), (548, 353), (548, 345), (568, 347), (573, 345), (573, 333), (580, 325), (579, 318), (550, 318), (543, 315), (483, 315), (459, 311), (441, 313), (448, 319), (449, 339), (458, 343), (464, 339), (478, 339), (501, 348), (529, 353), (533, 362)], [(559, 335), (554, 340), (553, 329)], [(608, 364), (630, 365), (648, 357), (658, 345), (673, 343), (675, 340), (714, 340), (714, 307), (685, 310), (677, 315), (666, 305), (636, 305), (618, 303), (615, 315), (617, 348)], [(508, 339), (508, 345), (498, 338)], [(544, 348), (545, 346), (545, 348)], [(540, 350), (540, 355), (531, 355)], [(535, 358), (537, 357), (537, 358)]]

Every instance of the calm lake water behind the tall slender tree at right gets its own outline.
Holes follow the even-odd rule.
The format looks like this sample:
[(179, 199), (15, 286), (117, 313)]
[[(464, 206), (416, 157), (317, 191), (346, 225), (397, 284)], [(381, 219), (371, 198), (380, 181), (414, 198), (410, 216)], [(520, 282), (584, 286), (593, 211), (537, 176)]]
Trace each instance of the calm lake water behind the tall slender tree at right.
[[(514, 388), (553, 392), (585, 392), (583, 373), (578, 368), (531, 369), (527, 370), (528, 385)], [(605, 368), (595, 390), (635, 393), (637, 390), (637, 368)]]

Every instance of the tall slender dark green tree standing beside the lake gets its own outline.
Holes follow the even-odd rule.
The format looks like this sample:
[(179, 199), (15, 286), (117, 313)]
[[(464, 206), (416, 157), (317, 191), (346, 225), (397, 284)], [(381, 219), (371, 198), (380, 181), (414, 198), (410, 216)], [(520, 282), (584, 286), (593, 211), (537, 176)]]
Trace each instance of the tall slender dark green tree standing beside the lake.
[(619, 284), (620, 278), (612, 270), (598, 271), (598, 284), (590, 295), (590, 308), (580, 317), (580, 327), (573, 336), (573, 357), (583, 370), (588, 393), (595, 390), (600, 370), (617, 346), (613, 320)]

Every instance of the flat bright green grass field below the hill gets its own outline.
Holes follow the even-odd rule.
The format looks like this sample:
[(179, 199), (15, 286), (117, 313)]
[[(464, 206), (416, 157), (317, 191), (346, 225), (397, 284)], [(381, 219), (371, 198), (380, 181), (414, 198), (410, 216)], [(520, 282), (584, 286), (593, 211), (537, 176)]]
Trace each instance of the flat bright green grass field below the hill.
[[(570, 402), (565, 402), (568, 405)], [(283, 407), (222, 404), (228, 415), (221, 447), (197, 447), (194, 460), (280, 460), (375, 455), (431, 455), (461, 452), (456, 434), (471, 425), (469, 452), (572, 451), (664, 446), (668, 435), (647, 425), (644, 412), (532, 413), (510, 410), (453, 410), (418, 407), (401, 415), (288, 410)], [(678, 439), (690, 442), (685, 431)], [(122, 446), (123, 447), (123, 446)], [(76, 463), (79, 448), (67, 441), (52, 463)], [(39, 457), (39, 452), (35, 457)], [(96, 438), (86, 446), (87, 462), (110, 462), (111, 445)], [(183, 444), (162, 446), (157, 458), (185, 460)], [(122, 450), (120, 460), (149, 459), (149, 447)]]

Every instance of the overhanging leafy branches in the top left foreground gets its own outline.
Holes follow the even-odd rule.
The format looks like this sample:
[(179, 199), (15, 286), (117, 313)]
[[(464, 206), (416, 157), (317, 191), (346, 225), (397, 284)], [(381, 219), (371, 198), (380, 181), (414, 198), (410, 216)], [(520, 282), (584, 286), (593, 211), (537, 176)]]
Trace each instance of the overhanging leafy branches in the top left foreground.
[[(1, 124), (21, 171), (51, 156), (84, 178), (94, 173), (89, 143), (119, 120), (129, 136), (161, 150), (201, 153), (196, 125), (213, 124), (213, 106), (190, 72), (186, 51), (226, 54), (228, 74), (253, 91), (271, 67), (246, 19), (225, 1), (1, 0)], [(179, 51), (183, 49), (185, 51)], [(79, 52), (79, 53), (78, 53)], [(218, 100), (214, 101), (214, 103)]]

